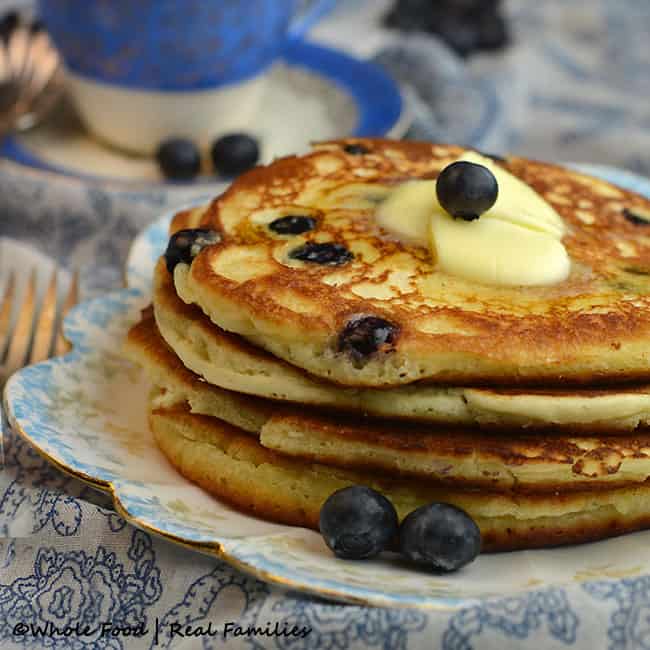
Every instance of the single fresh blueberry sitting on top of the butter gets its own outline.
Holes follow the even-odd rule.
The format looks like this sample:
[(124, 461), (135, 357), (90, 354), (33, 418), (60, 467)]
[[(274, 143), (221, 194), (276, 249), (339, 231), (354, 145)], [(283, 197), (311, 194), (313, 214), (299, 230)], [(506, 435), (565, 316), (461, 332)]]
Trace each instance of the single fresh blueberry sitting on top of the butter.
[(487, 167), (459, 161), (440, 172), (436, 194), (453, 217), (473, 221), (495, 204), (499, 186)]

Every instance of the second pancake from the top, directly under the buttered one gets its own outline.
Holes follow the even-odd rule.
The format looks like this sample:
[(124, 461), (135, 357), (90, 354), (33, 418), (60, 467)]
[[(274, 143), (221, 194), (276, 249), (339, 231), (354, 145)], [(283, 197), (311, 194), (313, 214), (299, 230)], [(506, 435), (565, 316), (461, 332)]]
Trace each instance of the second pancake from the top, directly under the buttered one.
[[(180, 218), (177, 225), (179, 222)], [(185, 366), (211, 384), (231, 391), (373, 416), (497, 426), (501, 430), (552, 428), (613, 433), (650, 423), (650, 388), (643, 385), (542, 391), (419, 383), (354, 389), (324, 382), (225, 332), (195, 305), (185, 304), (176, 295), (162, 259), (154, 273), (153, 302), (160, 333)]]

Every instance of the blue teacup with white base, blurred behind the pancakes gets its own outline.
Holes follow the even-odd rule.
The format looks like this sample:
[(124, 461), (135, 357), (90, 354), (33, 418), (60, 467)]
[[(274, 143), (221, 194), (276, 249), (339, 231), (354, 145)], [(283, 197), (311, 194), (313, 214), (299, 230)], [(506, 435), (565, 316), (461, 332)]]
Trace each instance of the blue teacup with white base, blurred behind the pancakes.
[(90, 131), (151, 154), (171, 136), (206, 147), (250, 124), (286, 39), (335, 2), (39, 0), (39, 11)]

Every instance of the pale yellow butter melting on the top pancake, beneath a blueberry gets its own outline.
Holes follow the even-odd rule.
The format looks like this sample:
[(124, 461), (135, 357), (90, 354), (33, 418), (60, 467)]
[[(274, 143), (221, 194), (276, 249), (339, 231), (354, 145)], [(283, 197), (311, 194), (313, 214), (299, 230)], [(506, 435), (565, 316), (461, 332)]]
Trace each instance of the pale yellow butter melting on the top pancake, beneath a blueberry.
[(440, 270), (467, 280), (502, 286), (565, 280), (566, 230), (553, 207), (484, 156), (467, 152), (458, 160), (483, 165), (497, 179), (497, 201), (480, 219), (454, 219), (438, 203), (436, 181), (410, 181), (379, 207), (377, 223), (405, 243), (430, 246)]

